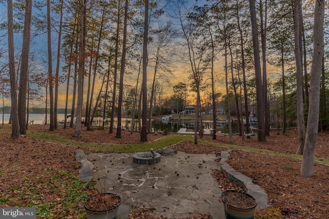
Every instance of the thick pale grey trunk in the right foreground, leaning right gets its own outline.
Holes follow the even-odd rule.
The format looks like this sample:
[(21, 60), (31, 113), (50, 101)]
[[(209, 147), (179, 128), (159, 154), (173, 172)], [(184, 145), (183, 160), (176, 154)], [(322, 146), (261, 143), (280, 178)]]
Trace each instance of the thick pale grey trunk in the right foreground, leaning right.
[(314, 10), (314, 52), (310, 74), (309, 108), (307, 118), (307, 131), (305, 147), (301, 166), (301, 175), (309, 177), (313, 175), (315, 146), (318, 136), (319, 109), (320, 109), (320, 82), (323, 60), (323, 21), (324, 0), (315, 2)]

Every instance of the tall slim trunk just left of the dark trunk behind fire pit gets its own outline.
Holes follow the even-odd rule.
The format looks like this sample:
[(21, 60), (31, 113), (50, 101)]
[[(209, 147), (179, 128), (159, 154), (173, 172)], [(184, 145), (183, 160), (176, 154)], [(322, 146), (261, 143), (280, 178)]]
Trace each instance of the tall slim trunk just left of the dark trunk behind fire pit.
[[(125, 0), (124, 5), (124, 23), (123, 23), (123, 43), (122, 43), (122, 57), (120, 68), (120, 83), (119, 83), (119, 97), (118, 97), (118, 126), (116, 137), (121, 138), (121, 116), (122, 116), (122, 96), (123, 96), (123, 75), (125, 67), (126, 41), (127, 41), (127, 17), (128, 17), (128, 0)], [(115, 85), (114, 85), (115, 86)]]

